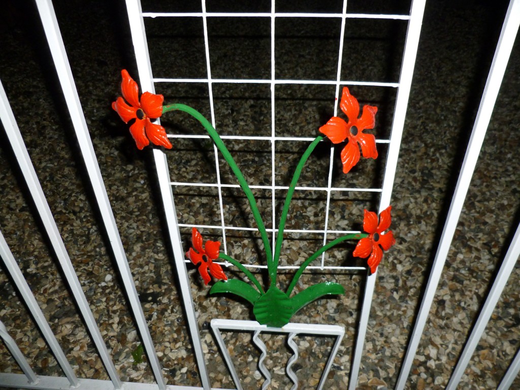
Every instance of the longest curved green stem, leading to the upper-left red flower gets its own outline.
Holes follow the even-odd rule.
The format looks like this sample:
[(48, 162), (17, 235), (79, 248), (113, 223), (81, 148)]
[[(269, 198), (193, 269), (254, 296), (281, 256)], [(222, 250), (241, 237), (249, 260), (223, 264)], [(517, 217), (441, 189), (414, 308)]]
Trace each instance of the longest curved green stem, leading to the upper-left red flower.
[[(271, 246), (269, 243), (269, 238), (267, 237), (267, 231), (265, 230), (264, 221), (262, 220), (262, 216), (260, 215), (260, 212), (258, 211), (258, 207), (256, 205), (256, 200), (253, 195), (253, 192), (251, 192), (251, 189), (249, 188), (248, 182), (245, 181), (244, 176), (242, 175), (242, 172), (240, 171), (239, 167), (237, 166), (237, 163), (235, 160), (233, 160), (233, 157), (231, 156), (231, 153), (229, 153), (229, 150), (227, 150), (226, 146), (224, 145), (224, 142), (218, 135), (215, 128), (212, 126), (212, 124), (207, 121), (206, 118), (204, 118), (204, 115), (202, 115), (199, 111), (183, 105), (183, 104), (173, 104), (173, 105), (167, 105), (163, 106), (162, 113), (168, 111), (184, 111), (193, 118), (197, 119), (202, 126), (207, 131), (207, 134), (213, 139), (213, 142), (215, 142), (215, 146), (218, 148), (220, 153), (222, 153), (224, 159), (229, 164), (229, 167), (235, 174), (235, 176), (238, 179), (238, 183), (240, 184), (240, 187), (242, 187), (242, 190), (245, 193), (245, 196), (248, 198), (249, 204), (251, 206), (251, 211), (253, 212), (253, 217), (255, 218), (256, 225), (258, 226), (258, 230), (260, 231), (260, 235), (262, 237), (262, 242), (264, 243), (265, 248), (265, 254), (267, 258), (267, 266), (270, 269), (272, 267), (272, 252), (271, 252)], [(276, 274), (275, 274), (276, 275)]]

